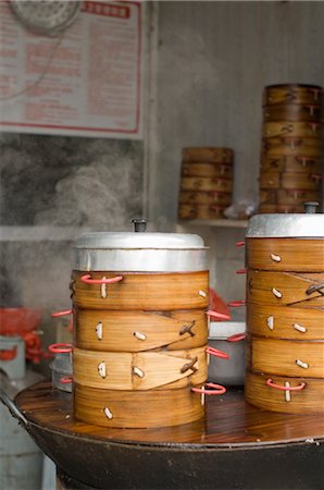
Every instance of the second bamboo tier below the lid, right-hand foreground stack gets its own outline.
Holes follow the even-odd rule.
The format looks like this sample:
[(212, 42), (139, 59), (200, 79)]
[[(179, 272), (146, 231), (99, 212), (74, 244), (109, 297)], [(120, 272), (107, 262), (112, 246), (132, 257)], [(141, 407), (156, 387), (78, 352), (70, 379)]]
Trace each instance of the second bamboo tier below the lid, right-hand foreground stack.
[(248, 270), (248, 303), (296, 308), (324, 308), (323, 289), (307, 293), (324, 283), (324, 273), (264, 272)]

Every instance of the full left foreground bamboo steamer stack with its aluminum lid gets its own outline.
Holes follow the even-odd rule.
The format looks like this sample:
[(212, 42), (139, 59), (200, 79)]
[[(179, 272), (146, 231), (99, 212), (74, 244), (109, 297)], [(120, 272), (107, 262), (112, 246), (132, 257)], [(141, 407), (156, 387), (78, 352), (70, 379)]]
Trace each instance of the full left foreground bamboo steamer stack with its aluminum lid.
[(104, 427), (187, 424), (204, 416), (207, 248), (135, 226), (76, 242), (74, 413)]

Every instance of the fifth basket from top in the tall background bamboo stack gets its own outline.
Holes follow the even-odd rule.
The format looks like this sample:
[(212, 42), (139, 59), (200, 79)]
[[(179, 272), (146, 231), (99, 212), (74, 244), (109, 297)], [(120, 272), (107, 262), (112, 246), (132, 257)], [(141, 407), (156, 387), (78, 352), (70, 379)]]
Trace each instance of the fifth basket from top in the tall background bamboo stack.
[(261, 155), (262, 172), (321, 173), (321, 158), (303, 156), (269, 157)]

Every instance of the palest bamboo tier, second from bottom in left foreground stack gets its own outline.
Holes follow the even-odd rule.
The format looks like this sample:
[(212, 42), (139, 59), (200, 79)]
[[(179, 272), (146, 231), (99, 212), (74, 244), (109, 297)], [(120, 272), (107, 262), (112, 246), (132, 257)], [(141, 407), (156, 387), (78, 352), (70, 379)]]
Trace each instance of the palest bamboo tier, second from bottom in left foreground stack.
[(205, 348), (140, 353), (74, 348), (73, 379), (84, 387), (117, 391), (169, 389), (179, 380), (180, 387), (204, 383)]

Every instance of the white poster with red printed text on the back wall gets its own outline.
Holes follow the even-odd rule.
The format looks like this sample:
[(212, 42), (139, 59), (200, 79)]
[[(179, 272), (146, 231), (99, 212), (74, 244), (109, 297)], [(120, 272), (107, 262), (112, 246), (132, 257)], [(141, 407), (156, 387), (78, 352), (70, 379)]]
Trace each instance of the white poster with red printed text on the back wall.
[(0, 1), (0, 131), (140, 139), (142, 4), (85, 1), (57, 37)]

